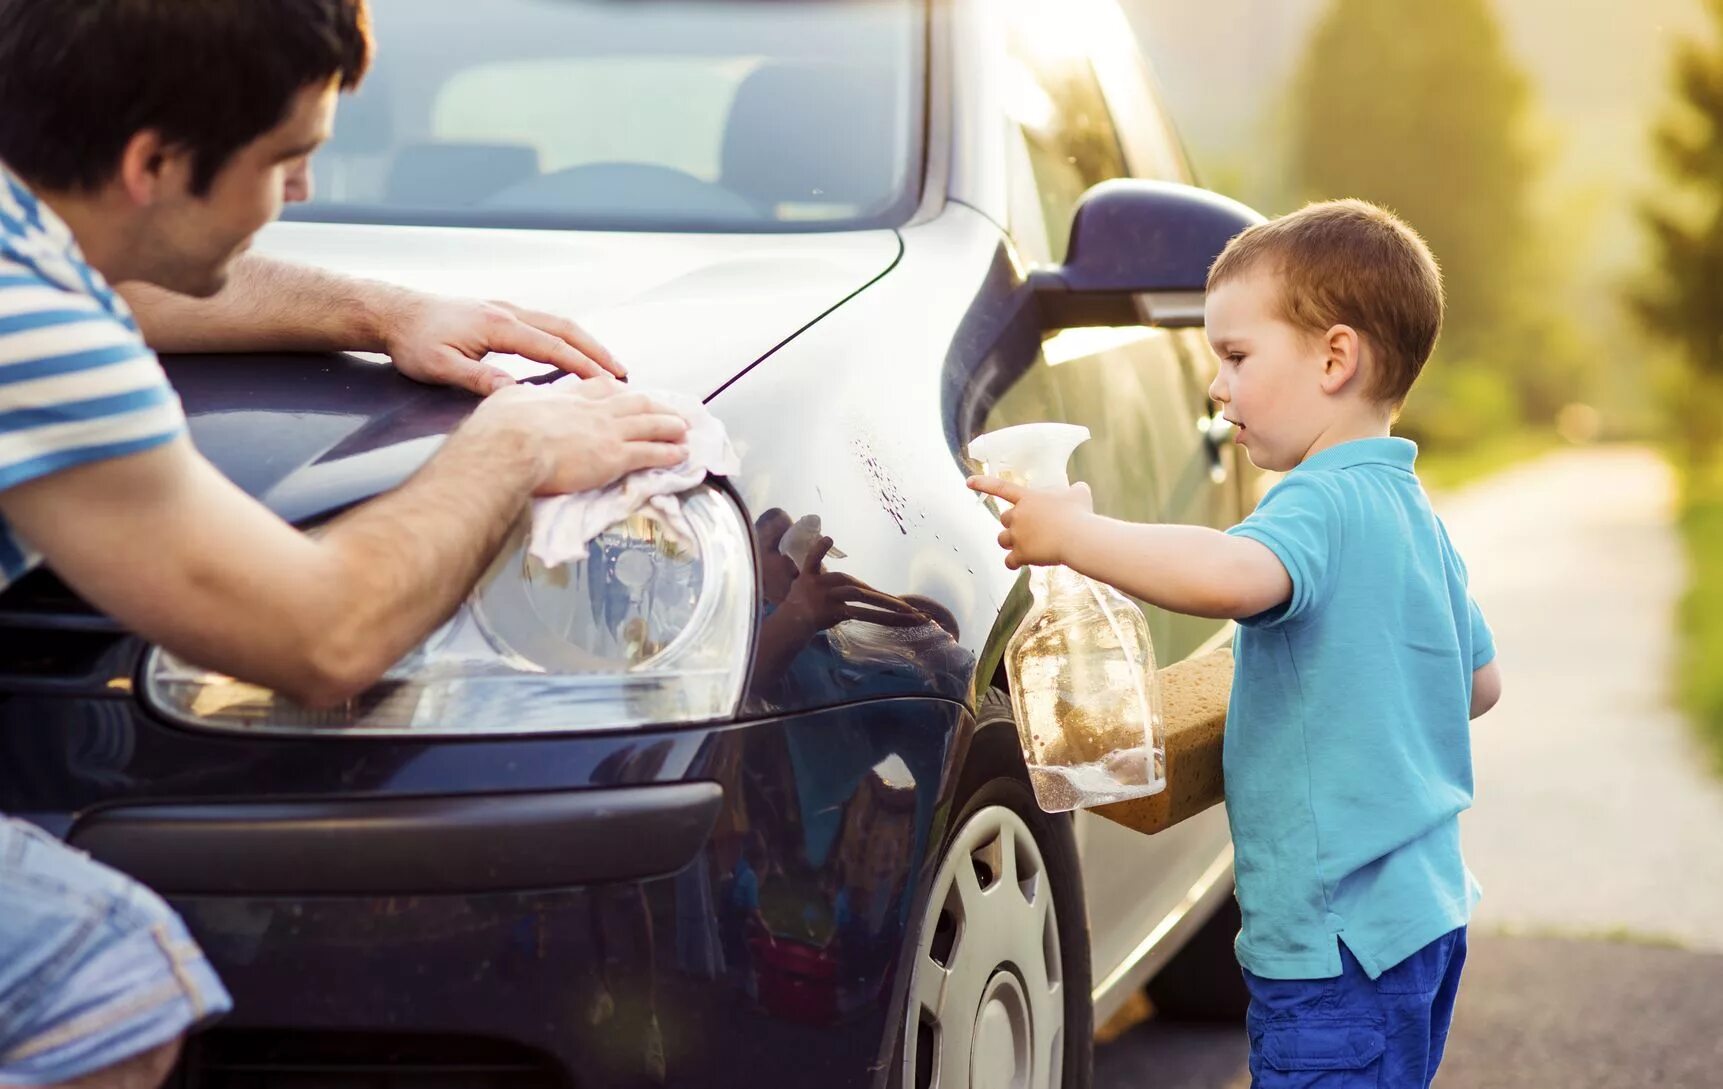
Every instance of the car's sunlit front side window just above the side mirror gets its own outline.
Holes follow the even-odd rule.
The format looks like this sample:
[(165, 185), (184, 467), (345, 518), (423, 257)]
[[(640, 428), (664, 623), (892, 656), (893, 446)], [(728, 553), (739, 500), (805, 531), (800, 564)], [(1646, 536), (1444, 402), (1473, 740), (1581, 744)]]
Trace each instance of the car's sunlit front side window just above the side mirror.
[(1022, 133), (1041, 203), (1048, 260), (1065, 260), (1072, 212), (1091, 186), (1130, 174), (1087, 55), (1048, 41), (1041, 19), (1008, 26), (1006, 109)]

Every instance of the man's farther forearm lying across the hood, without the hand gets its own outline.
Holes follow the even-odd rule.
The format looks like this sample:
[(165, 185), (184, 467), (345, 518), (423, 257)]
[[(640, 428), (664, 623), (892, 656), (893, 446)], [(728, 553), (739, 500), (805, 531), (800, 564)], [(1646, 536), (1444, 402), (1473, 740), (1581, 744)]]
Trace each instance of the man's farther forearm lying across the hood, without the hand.
[(121, 284), (143, 339), (157, 352), (381, 352), (400, 288), (241, 255), (221, 295), (190, 298)]

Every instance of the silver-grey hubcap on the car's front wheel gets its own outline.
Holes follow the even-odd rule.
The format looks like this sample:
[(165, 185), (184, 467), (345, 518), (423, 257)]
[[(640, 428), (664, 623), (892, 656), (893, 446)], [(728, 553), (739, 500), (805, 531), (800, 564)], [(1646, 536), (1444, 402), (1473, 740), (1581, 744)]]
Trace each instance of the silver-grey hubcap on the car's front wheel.
[(1058, 1089), (1060, 932), (1041, 848), (1005, 806), (979, 810), (939, 863), (910, 977), (903, 1084)]

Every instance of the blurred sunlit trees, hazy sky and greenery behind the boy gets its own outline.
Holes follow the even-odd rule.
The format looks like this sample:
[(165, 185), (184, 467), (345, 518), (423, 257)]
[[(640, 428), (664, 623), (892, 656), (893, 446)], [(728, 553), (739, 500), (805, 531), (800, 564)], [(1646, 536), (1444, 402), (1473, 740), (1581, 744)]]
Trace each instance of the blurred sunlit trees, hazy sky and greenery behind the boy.
[(1449, 317), (1399, 427), (1427, 479), (1668, 453), (1678, 688), (1723, 767), (1723, 0), (1123, 5), (1204, 184), (1363, 196), (1430, 241)]

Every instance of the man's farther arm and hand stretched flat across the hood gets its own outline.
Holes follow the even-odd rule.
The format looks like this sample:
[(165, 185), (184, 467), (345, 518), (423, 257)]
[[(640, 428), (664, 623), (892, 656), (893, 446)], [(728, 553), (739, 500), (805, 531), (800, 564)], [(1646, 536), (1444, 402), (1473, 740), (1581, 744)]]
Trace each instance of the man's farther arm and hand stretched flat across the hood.
[(569, 319), (510, 303), (441, 298), (246, 253), (214, 298), (119, 286), (157, 352), (384, 352), (417, 381), (486, 395), (513, 379), (501, 352), (594, 377), (625, 370)]

